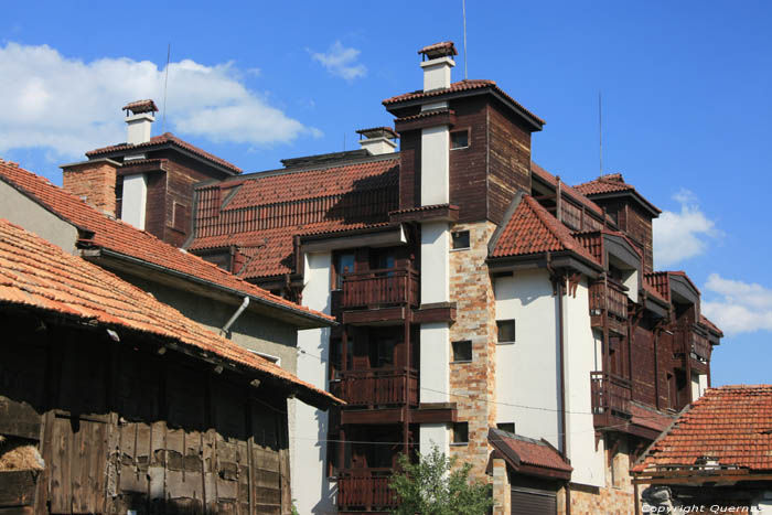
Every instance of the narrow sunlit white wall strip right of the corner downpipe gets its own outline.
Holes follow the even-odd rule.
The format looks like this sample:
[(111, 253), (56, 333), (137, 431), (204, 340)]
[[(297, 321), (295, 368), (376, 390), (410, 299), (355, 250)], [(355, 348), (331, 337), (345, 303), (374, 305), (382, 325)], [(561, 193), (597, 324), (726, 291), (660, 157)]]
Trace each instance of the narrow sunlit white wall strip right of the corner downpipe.
[(589, 289), (582, 278), (576, 297), (564, 297), (564, 342), (566, 352), (566, 430), (568, 457), (573, 466), (571, 482), (605, 485), (603, 447), (596, 449), (590, 373), (598, 371), (597, 341), (589, 312)]

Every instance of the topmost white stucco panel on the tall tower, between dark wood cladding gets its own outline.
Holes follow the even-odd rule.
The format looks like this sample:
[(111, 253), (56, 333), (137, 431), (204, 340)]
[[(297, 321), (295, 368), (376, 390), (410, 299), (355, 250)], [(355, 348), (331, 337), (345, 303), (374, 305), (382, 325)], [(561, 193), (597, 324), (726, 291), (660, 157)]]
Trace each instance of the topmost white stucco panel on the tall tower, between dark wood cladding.
[(448, 126), (421, 130), (421, 205), (450, 202), (450, 131)]

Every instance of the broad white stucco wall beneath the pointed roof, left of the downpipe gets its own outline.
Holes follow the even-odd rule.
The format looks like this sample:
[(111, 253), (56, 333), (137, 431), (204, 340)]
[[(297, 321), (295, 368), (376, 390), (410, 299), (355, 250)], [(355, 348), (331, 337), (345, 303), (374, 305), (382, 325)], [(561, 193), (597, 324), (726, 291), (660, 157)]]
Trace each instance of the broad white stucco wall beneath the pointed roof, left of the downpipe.
[[(496, 346), (496, 418), (560, 447), (557, 304), (543, 270), (494, 282), (496, 320), (515, 319), (515, 343)], [(423, 371), (421, 369), (421, 373)], [(511, 406), (517, 405), (517, 406)]]

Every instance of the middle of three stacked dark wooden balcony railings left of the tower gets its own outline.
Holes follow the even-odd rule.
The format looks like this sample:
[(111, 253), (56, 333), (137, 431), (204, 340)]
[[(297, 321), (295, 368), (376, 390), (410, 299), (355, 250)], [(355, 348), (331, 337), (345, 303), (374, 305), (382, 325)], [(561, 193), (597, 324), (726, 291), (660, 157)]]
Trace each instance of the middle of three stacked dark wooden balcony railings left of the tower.
[(418, 371), (414, 368), (371, 368), (339, 373), (331, 390), (347, 406), (418, 406)]

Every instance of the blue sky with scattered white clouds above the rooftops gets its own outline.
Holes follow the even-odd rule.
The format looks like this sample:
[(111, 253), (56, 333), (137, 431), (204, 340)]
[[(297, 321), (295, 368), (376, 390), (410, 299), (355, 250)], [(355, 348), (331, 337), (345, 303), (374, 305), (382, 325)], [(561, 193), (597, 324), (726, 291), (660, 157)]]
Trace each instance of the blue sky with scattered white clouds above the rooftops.
[[(0, 155), (61, 183), (58, 164), (124, 141), (125, 103), (163, 104), (169, 43), (165, 130), (246, 171), (390, 125), (380, 100), (421, 87), (426, 44), (455, 41), (463, 78), (460, 0), (223, 3), (3, 6)], [(728, 333), (714, 384), (772, 383), (772, 3), (468, 0), (467, 12), (469, 77), (547, 120), (533, 157), (567, 182), (598, 175), (602, 92), (604, 171), (665, 211), (660, 266), (686, 269)]]

